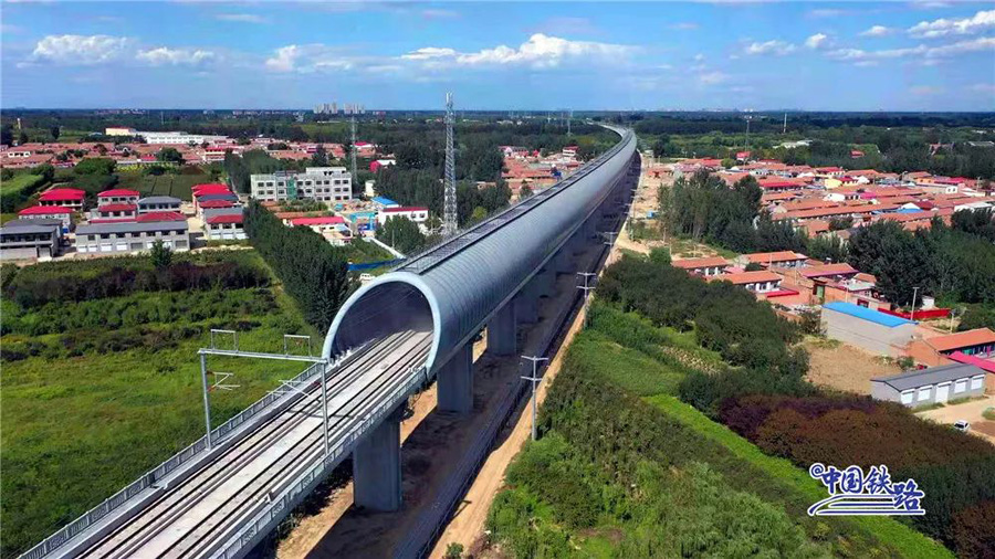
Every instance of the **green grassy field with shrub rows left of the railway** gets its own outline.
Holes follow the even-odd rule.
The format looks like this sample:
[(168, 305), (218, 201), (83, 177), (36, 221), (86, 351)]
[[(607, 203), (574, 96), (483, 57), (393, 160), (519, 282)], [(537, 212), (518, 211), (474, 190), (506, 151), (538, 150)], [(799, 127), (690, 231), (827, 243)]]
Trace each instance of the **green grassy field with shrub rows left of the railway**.
[[(263, 283), (270, 283), (138, 289), (97, 298), (76, 292), (84, 300), (27, 307), (4, 296), (0, 342), (4, 350), (29, 342), (34, 349), (4, 356), (17, 360), (3, 362), (3, 557), (24, 551), (202, 436), (196, 351), (208, 345), (209, 328), (237, 328), (239, 347), (265, 351), (282, 351), (284, 333), (317, 334), (271, 283), (272, 274), (254, 251), (177, 260), (198, 266), (240, 264), (261, 270), (268, 278)], [(94, 283), (106, 281), (114, 266), (147, 270), (150, 264), (145, 257), (52, 263), (23, 268), (13, 281), (4, 276), (4, 284), (65, 282), (57, 278), (70, 275)], [(293, 362), (213, 357), (208, 367), (234, 372), (226, 382), (238, 386), (211, 392), (214, 425), (302, 369)]]

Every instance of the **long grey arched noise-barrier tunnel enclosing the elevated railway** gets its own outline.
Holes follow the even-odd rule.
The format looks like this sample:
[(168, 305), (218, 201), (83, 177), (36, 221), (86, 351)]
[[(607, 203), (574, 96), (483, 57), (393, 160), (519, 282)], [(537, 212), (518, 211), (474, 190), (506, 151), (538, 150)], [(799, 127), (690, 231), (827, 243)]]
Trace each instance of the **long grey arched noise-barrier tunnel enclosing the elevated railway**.
[(577, 173), (354, 293), (328, 330), (324, 355), (405, 329), (432, 331), (426, 368), (433, 373), (617, 193), (636, 136), (616, 131), (622, 140)]

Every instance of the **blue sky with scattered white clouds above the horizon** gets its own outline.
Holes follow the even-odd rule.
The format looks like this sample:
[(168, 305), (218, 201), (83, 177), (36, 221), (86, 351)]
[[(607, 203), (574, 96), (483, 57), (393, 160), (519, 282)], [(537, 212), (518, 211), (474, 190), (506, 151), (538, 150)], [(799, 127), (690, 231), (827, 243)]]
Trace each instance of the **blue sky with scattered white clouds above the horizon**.
[(3, 1), (3, 107), (995, 110), (995, 3)]

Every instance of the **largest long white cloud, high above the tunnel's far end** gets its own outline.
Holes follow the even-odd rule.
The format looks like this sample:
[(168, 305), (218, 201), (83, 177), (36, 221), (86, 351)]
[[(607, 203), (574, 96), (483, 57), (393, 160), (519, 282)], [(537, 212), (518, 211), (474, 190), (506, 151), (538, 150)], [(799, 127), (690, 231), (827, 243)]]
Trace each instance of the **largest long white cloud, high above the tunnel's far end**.
[(493, 49), (463, 53), (453, 49), (426, 46), (402, 54), (401, 59), (436, 62), (451, 60), (465, 66), (525, 65), (544, 68), (558, 66), (566, 61), (617, 63), (628, 57), (632, 52), (633, 48), (621, 44), (570, 41), (558, 36), (535, 33), (519, 48), (502, 44)]

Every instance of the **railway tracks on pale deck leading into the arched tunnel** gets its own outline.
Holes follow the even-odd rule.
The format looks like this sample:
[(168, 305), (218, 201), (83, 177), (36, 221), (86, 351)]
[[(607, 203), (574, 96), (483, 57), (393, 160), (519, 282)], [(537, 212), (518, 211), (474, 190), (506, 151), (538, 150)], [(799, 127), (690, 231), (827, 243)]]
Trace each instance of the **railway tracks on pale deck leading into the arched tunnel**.
[[(428, 355), (428, 333), (405, 331), (365, 346), (326, 379), (331, 444), (364, 410), (407, 382)], [(320, 381), (213, 461), (164, 492), (76, 557), (208, 557), (240, 524), (322, 460)]]

